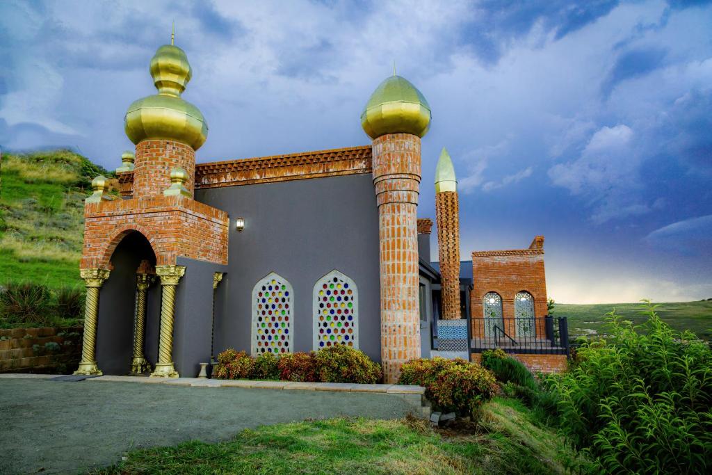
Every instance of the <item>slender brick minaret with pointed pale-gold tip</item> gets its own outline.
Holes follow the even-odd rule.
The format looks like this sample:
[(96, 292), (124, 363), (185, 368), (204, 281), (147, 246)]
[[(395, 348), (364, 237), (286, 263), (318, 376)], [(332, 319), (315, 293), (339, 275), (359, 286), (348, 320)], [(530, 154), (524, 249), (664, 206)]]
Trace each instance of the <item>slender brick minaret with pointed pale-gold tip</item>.
[(460, 311), (460, 219), (457, 181), (445, 147), (435, 171), (435, 219), (442, 277), (442, 318), (456, 320)]

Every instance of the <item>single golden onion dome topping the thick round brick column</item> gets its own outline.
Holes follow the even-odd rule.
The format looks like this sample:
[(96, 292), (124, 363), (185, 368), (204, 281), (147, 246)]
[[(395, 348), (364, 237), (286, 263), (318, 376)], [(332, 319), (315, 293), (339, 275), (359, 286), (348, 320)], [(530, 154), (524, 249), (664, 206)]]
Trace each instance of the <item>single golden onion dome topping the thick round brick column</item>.
[(405, 133), (423, 137), (430, 127), (430, 105), (406, 78), (392, 75), (373, 92), (361, 113), (361, 127), (372, 139)]

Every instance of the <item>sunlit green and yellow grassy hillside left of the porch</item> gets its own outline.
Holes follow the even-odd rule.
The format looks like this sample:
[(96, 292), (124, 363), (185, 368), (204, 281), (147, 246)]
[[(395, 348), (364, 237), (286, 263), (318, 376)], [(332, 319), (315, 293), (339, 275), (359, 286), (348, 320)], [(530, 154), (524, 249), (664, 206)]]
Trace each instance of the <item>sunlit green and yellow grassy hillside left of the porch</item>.
[(79, 285), (84, 199), (107, 171), (68, 150), (4, 154), (0, 165), (0, 285)]

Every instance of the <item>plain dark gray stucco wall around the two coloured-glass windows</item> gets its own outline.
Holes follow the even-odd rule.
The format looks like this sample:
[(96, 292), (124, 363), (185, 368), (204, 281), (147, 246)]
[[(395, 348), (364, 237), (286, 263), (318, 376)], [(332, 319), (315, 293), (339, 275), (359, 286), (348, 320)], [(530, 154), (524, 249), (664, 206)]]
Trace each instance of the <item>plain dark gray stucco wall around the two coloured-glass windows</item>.
[[(228, 273), (216, 296), (215, 353), (250, 351), (253, 286), (274, 271), (293, 286), (293, 350), (312, 350), (312, 292), (337, 269), (359, 291), (359, 346), (380, 360), (378, 210), (370, 174), (197, 190), (229, 213)], [(244, 217), (245, 229), (234, 229)]]

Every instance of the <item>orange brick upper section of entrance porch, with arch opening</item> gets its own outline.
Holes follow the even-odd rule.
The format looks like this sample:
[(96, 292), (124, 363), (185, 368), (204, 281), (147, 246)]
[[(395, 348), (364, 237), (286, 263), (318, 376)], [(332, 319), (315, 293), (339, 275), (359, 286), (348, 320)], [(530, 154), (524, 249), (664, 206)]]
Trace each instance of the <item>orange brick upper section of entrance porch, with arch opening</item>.
[(117, 199), (84, 208), (82, 268), (110, 268), (111, 255), (131, 231), (150, 242), (157, 265), (178, 256), (227, 263), (226, 212), (182, 196)]

